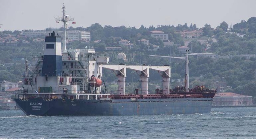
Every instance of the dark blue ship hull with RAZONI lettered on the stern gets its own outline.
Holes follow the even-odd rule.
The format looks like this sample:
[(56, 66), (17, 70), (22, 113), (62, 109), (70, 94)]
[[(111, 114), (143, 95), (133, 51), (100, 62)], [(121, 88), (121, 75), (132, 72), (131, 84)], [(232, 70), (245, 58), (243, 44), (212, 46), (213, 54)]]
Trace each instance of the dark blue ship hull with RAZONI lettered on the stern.
[(71, 99), (15, 99), (26, 115), (39, 116), (125, 116), (210, 113), (212, 98), (195, 99), (138, 99), (137, 101), (117, 99), (71, 100)]

